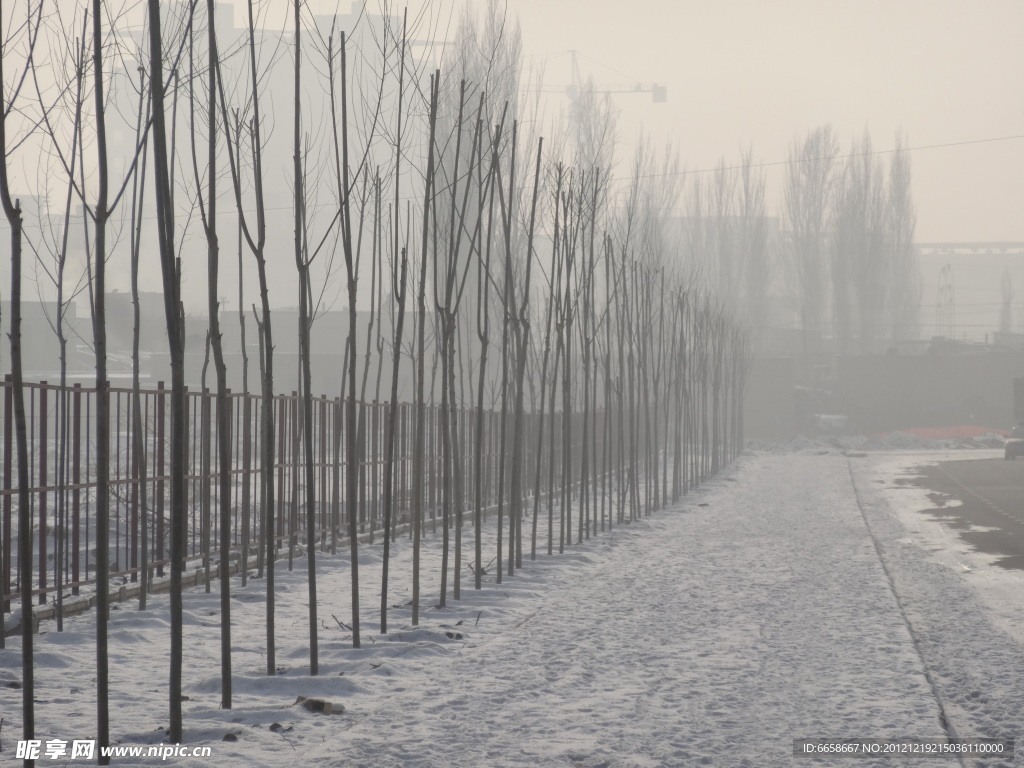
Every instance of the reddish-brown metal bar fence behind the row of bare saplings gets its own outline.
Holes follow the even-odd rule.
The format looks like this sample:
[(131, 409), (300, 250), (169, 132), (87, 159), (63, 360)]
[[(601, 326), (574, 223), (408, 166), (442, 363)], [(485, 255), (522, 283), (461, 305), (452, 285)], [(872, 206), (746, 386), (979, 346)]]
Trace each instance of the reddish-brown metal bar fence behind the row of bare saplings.
[[(2, 391), (2, 481), (0, 488), (0, 604), (9, 612), (20, 596), (18, 582), (16, 529), (17, 458), (13, 444), (13, 387), (8, 376), (0, 382)], [(83, 587), (95, 584), (95, 398), (94, 387), (80, 384), (57, 386), (47, 382), (26, 383), (26, 415), (30, 446), (30, 494), (33, 521), (34, 582), (32, 593), (40, 604), (54, 599), (59, 587), (61, 595), (78, 595)], [(159, 383), (156, 389), (138, 394), (141, 418), (133, 418), (134, 395), (131, 389), (110, 388), (111, 466), (110, 466), (110, 540), (108, 542), (112, 580), (137, 582), (146, 550), (147, 578), (164, 575), (169, 565), (169, 472), (170, 472), (170, 390)], [(252, 553), (257, 567), (262, 569), (263, 550), (260, 541), (260, 437), (259, 414), (261, 399), (254, 394), (230, 393), (231, 483), (230, 508), (232, 550), (246, 558)], [(211, 562), (219, 558), (219, 508), (217, 500), (219, 473), (215, 394), (204, 390), (188, 391), (187, 403), (187, 558), (200, 560), (209, 573)], [(316, 537), (323, 548), (335, 548), (347, 532), (349, 510), (345, 504), (344, 404), (340, 397), (313, 398), (313, 472), (315, 485)], [(304, 452), (302, 451), (301, 398), (296, 394), (273, 398), (275, 425), (274, 537), (280, 556), (292, 557), (299, 543), (306, 541), (307, 510), (304, 494)], [(402, 403), (397, 412), (395, 464), (393, 473), (395, 525), (407, 522), (412, 513), (413, 446), (415, 406)], [(361, 460), (358, 464), (358, 503), (351, 514), (356, 515), (360, 532), (374, 532), (382, 527), (383, 477), (385, 440), (388, 429), (387, 403), (358, 402), (357, 424), (361, 433)], [(440, 410), (427, 407), (425, 419), (425, 526), (435, 528), (440, 518), (442, 453), (439, 435)], [(480, 476), (483, 503), (497, 503), (501, 474), (500, 412), (487, 412), (483, 419), (483, 470)], [(524, 422), (524, 476), (527, 494), (532, 488), (532, 467), (537, 461), (536, 429), (542, 418), (526, 415)], [(543, 483), (552, 479), (560, 483), (562, 425), (561, 415), (544, 417), (546, 436), (542, 451), (545, 461)], [(580, 435), (581, 416), (570, 417), (573, 434)], [(597, 414), (591, 414), (597, 425)], [(477, 415), (474, 410), (458, 410), (459, 456), (462, 462), (465, 508), (472, 509), (476, 498)], [(553, 421), (552, 421), (553, 419)], [(614, 426), (609, 430), (615, 431)], [(596, 429), (595, 429), (596, 433)], [(611, 434), (608, 432), (606, 434)], [(594, 439), (594, 456), (603, 450), (602, 439)], [(136, 437), (140, 438), (136, 440)], [(507, 439), (511, 438), (511, 419)], [(577, 443), (580, 444), (580, 443)], [(550, 456), (549, 456), (550, 454)], [(581, 466), (580, 451), (569, 471)], [(550, 461), (551, 456), (556, 457)], [(595, 462), (596, 458), (592, 461)], [(549, 474), (553, 472), (554, 474)], [(573, 474), (573, 476), (575, 476)], [(505, 494), (508, 473), (505, 473)], [(143, 537), (144, 532), (144, 537)], [(144, 543), (144, 544), (143, 544)]]

